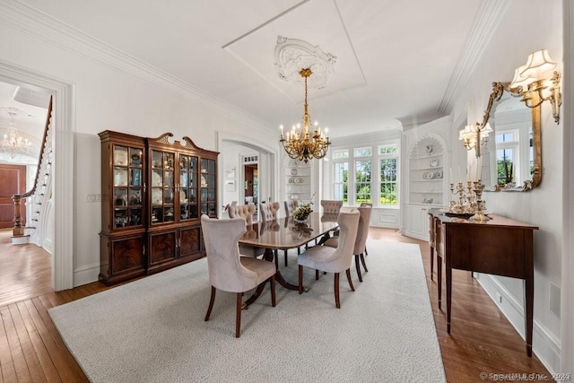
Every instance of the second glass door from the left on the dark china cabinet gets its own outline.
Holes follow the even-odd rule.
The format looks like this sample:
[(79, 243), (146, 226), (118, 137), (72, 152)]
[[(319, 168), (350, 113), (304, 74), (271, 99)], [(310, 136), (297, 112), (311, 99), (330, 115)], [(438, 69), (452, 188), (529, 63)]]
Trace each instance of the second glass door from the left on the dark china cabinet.
[(151, 222), (173, 222), (175, 209), (175, 153), (152, 150)]

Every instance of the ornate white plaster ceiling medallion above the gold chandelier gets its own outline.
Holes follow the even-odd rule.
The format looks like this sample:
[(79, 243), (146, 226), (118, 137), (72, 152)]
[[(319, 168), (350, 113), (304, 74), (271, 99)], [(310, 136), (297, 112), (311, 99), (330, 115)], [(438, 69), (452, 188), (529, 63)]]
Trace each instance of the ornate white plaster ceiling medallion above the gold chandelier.
[(329, 75), (334, 72), (333, 65), (336, 60), (335, 55), (325, 53), (307, 41), (277, 37), (275, 65), (282, 80), (299, 83), (301, 68), (310, 68), (313, 76), (309, 77), (309, 88), (321, 89), (326, 86)]

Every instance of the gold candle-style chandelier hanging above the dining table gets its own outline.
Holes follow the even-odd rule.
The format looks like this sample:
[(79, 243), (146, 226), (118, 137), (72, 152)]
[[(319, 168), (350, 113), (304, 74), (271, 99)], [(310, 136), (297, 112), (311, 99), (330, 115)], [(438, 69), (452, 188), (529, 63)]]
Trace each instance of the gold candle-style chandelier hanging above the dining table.
[[(325, 128), (321, 131), (317, 121), (313, 126), (310, 125), (309, 106), (307, 104), (307, 79), (312, 74), (311, 68), (301, 69), (299, 74), (305, 79), (305, 112), (303, 113), (303, 126), (297, 124), (291, 127), (291, 131), (287, 132), (287, 138), (283, 136), (283, 125), (281, 128), (281, 139), (279, 142), (283, 144), (283, 149), (287, 155), (295, 160), (308, 162), (309, 159), (323, 158), (331, 144), (329, 142), (328, 129)], [(313, 131), (309, 134), (309, 127)]]

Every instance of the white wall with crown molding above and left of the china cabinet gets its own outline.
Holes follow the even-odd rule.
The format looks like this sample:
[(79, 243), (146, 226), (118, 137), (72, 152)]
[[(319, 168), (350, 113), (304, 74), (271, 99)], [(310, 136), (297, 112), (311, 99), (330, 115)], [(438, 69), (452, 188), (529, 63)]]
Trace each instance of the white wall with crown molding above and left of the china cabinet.
[[(13, 22), (11, 12), (0, 4), (1, 63), (74, 88), (70, 122), (74, 174), (65, 175), (70, 179), (65, 187), (72, 188), (74, 197), (65, 206), (56, 206), (74, 209), (73, 230), (64, 233), (74, 243), (74, 286), (97, 280), (100, 272), (100, 203), (86, 202), (88, 195), (101, 193), (99, 132), (109, 129), (152, 137), (171, 132), (179, 140), (187, 135), (208, 150), (218, 150), (217, 132), (233, 132), (239, 137), (257, 135), (259, 142), (277, 147), (272, 129), (222, 108), (222, 102), (199, 100), (196, 90), (181, 88), (154, 68), (142, 70), (144, 65), (136, 66), (117, 52), (100, 51), (96, 42), (88, 47), (49, 20), (38, 22), (21, 14)], [(225, 153), (220, 154), (223, 157)], [(56, 222), (56, 232), (62, 230), (61, 224)]]

